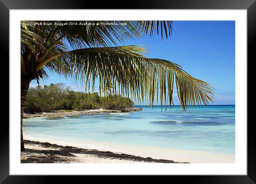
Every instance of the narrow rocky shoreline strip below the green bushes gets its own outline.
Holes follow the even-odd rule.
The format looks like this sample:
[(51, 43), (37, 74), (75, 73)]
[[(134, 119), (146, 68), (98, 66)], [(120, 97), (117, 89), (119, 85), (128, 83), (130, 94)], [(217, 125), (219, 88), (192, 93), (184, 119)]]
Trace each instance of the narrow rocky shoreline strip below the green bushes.
[(97, 114), (97, 113), (124, 113), (124, 112), (133, 112), (133, 111), (142, 111), (142, 108), (127, 108), (120, 110), (110, 110), (110, 109), (89, 109), (83, 111), (70, 111), (70, 112), (50, 112), (50, 113), (37, 113), (37, 114), (23, 114), (23, 119), (27, 118), (36, 118), (36, 117), (59, 117), (59, 116), (71, 116), (71, 115), (81, 115), (81, 114)]

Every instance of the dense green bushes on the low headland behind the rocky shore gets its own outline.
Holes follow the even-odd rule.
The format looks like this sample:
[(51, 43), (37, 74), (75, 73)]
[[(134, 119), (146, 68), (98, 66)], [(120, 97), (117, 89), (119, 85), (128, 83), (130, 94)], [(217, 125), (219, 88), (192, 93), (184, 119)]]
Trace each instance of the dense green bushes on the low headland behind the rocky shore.
[(25, 113), (52, 112), (56, 110), (72, 111), (85, 109), (124, 109), (134, 105), (129, 98), (113, 95), (109, 92), (106, 97), (96, 93), (72, 91), (63, 83), (38, 85), (28, 89), (25, 101)]

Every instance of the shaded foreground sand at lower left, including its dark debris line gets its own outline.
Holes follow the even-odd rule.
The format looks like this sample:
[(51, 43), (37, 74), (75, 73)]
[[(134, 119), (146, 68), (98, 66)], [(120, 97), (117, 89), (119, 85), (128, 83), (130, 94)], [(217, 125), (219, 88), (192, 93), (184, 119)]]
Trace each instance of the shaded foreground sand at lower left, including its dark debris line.
[(188, 163), (24, 140), (21, 163)]

